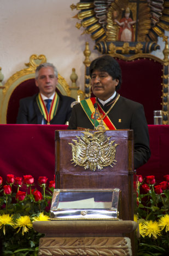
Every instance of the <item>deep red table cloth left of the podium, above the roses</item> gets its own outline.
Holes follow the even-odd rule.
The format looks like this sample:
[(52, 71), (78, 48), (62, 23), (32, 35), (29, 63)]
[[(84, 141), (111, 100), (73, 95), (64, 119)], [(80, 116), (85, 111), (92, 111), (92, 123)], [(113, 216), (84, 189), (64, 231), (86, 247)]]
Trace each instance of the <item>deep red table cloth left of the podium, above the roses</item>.
[(0, 125), (0, 176), (54, 180), (55, 130), (67, 130), (67, 125)]

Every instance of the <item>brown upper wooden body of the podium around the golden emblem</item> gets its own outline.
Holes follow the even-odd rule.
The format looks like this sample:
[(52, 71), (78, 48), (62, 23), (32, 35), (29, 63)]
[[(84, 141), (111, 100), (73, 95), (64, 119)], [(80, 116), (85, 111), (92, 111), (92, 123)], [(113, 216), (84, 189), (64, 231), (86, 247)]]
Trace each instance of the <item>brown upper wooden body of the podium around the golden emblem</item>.
[[(108, 130), (105, 135), (116, 147), (115, 164), (102, 170), (91, 171), (72, 163), (72, 140), (83, 136), (84, 130), (55, 131), (55, 175), (57, 188), (119, 188), (121, 205), (119, 218), (133, 220), (134, 204), (136, 204), (135, 172), (133, 170), (133, 131)], [(91, 133), (96, 131), (90, 130)]]

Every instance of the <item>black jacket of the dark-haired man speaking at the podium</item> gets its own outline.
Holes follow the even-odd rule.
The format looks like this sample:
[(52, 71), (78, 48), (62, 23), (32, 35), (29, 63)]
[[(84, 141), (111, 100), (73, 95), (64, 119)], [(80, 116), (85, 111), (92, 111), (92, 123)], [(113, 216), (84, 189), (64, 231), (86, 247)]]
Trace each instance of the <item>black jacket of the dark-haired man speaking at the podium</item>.
[[(104, 109), (102, 105), (101, 107)], [(148, 125), (143, 105), (120, 96), (112, 110), (110, 110), (108, 117), (116, 129), (131, 129), (134, 131), (135, 169), (145, 164), (150, 157), (150, 149)], [(80, 104), (74, 105), (72, 109), (68, 129), (76, 130), (77, 127), (94, 129)]]

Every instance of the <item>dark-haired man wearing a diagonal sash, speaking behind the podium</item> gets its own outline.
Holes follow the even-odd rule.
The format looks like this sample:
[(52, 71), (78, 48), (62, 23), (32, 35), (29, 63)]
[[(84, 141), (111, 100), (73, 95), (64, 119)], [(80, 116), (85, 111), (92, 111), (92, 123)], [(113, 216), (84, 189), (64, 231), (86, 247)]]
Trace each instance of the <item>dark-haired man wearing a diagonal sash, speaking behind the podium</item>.
[(116, 92), (121, 85), (121, 69), (110, 55), (103, 55), (91, 62), (90, 76), (92, 92), (96, 98), (85, 99), (74, 105), (68, 129), (94, 129), (95, 125), (98, 130), (101, 127), (104, 130), (133, 130), (134, 167), (139, 168), (150, 157), (148, 125), (143, 105)]

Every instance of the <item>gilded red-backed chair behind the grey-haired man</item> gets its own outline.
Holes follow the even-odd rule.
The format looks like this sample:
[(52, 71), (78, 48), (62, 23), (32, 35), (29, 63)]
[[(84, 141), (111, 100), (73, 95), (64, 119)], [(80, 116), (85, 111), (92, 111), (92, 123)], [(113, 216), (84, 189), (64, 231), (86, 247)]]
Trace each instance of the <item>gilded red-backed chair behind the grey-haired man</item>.
[[(25, 64), (26, 68), (10, 76), (5, 85), (0, 86), (0, 124), (16, 124), (20, 99), (38, 92), (34, 79), (35, 70), (44, 62), (46, 62), (45, 55), (31, 55), (30, 62)], [(56, 91), (72, 97), (75, 97), (75, 94), (72, 94), (75, 91), (83, 97), (83, 92), (78, 91), (75, 84), (77, 80), (77, 76), (74, 75), (75, 70), (72, 69), (72, 71), (72, 87), (69, 87), (66, 80), (59, 74)]]

